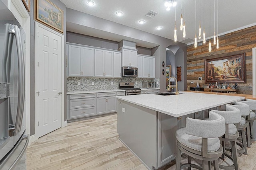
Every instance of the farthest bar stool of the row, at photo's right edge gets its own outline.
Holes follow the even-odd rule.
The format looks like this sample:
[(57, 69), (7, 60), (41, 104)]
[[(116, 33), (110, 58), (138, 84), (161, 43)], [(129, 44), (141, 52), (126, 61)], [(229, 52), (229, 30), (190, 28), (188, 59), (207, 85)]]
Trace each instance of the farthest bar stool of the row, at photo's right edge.
[(250, 107), (250, 116), (248, 115), (246, 117), (246, 122), (249, 123), (250, 127), (250, 137), (251, 137), (251, 143), (254, 142), (254, 129), (253, 129), (253, 123), (256, 120), (256, 100), (252, 99), (245, 99), (245, 100), (240, 100), (239, 102), (248, 104)]

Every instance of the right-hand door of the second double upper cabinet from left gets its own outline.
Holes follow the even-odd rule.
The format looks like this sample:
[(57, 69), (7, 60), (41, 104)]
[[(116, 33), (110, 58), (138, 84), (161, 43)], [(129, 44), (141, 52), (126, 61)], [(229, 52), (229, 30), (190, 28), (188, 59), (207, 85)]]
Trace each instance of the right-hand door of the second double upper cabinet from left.
[(113, 77), (113, 51), (104, 51), (104, 77)]

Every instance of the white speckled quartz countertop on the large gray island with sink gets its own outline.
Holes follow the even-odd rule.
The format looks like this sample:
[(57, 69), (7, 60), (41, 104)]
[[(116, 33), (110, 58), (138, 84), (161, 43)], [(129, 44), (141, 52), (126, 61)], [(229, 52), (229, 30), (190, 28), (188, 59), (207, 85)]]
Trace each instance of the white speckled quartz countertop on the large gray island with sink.
[(244, 97), (223, 96), (216, 94), (201, 94), (180, 92), (180, 95), (161, 96), (156, 94), (117, 96), (116, 98), (146, 107), (174, 117), (188, 115), (197, 111), (210, 109), (242, 100)]

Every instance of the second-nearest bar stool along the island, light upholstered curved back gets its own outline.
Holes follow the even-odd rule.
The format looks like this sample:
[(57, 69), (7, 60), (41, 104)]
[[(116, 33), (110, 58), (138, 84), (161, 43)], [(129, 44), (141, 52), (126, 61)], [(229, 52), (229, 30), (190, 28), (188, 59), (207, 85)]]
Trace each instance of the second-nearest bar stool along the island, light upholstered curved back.
[[(220, 115), (222, 115), (225, 119), (226, 123), (226, 131), (225, 134), (220, 138), (222, 140), (222, 146), (223, 146), (223, 154), (222, 159), (224, 159), (224, 156), (228, 157), (230, 160), (232, 160), (233, 164), (230, 166), (225, 165), (219, 165), (221, 169), (235, 169), (238, 170), (238, 156), (237, 156), (237, 147), (236, 147), (236, 139), (239, 137), (239, 133), (237, 131), (238, 123), (240, 124), (241, 121), (241, 113), (240, 110), (236, 107), (233, 107), (232, 105), (226, 105), (226, 111), (220, 111), (220, 110), (212, 110)], [(230, 142), (231, 145), (231, 156), (227, 153), (225, 153), (225, 142)]]

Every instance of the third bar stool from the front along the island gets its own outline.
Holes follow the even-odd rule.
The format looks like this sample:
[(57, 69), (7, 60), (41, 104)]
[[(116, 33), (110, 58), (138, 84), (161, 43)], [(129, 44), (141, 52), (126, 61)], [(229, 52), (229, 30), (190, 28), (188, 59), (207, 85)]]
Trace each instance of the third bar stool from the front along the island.
[[(237, 152), (247, 155), (247, 147), (246, 146), (247, 145), (250, 146), (250, 128), (248, 126), (248, 123), (246, 123), (246, 120), (244, 117), (246, 117), (247, 115), (250, 114), (249, 105), (236, 101), (235, 105), (230, 105), (230, 106), (238, 108), (241, 113), (241, 122), (240, 122), (240, 125), (238, 125), (237, 130), (238, 130), (238, 132), (241, 133), (242, 144), (237, 142), (237, 145), (241, 147), (241, 149), (237, 150)], [(245, 129), (245, 131), (244, 131), (244, 129)], [(246, 135), (245, 135), (245, 133), (246, 133)], [(247, 145), (246, 145), (246, 141), (247, 141)]]

